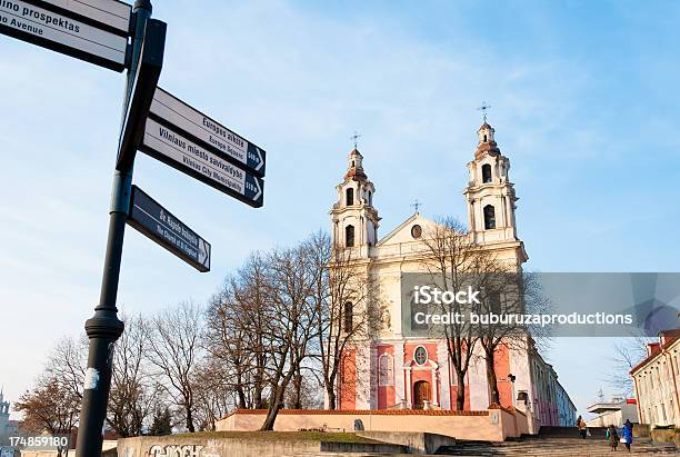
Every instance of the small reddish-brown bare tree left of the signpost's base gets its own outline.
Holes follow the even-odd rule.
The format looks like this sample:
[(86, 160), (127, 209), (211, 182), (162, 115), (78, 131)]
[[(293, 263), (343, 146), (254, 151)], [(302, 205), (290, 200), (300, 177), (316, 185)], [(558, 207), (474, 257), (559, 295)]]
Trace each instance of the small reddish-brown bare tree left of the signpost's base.
[[(23, 413), (23, 428), (32, 433), (48, 431), (52, 436), (70, 436), (80, 415), (80, 397), (71, 386), (46, 371), (32, 390), (27, 390), (14, 410)], [(61, 456), (66, 447), (59, 446)]]

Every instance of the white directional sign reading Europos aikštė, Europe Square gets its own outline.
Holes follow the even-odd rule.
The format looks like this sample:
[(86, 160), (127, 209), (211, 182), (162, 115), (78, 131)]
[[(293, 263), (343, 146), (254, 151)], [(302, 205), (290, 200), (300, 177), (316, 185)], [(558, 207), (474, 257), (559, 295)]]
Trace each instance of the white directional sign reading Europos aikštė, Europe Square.
[(228, 161), (244, 166), (256, 176), (264, 176), (266, 152), (227, 127), (158, 88), (150, 116), (160, 123), (182, 132)]

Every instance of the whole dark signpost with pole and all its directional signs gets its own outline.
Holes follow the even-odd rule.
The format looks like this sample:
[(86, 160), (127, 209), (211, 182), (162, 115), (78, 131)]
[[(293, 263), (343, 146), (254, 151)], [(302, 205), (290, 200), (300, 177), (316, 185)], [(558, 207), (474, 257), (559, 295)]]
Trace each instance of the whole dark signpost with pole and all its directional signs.
[(126, 225), (199, 271), (210, 270), (210, 244), (132, 186), (137, 150), (247, 205), (263, 203), (264, 150), (157, 87), (167, 27), (150, 17), (150, 0), (136, 0), (134, 8), (118, 0), (0, 0), (0, 33), (128, 69), (101, 291), (84, 326), (89, 350), (77, 457), (101, 454), (111, 351), (124, 328), (116, 301)]

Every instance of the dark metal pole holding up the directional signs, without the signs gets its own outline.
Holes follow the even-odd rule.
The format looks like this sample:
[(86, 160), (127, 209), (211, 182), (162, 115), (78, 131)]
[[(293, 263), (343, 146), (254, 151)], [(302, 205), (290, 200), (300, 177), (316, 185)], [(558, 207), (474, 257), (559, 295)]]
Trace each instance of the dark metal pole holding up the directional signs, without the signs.
[[(133, 12), (136, 14), (136, 23), (132, 39), (132, 59), (130, 70), (128, 71), (122, 122), (124, 122), (124, 112), (130, 102), (147, 20), (151, 17), (151, 2), (149, 0), (137, 0)], [(102, 429), (111, 387), (113, 342), (120, 337), (124, 328), (123, 322), (118, 318), (116, 299), (131, 190), (132, 163), (123, 170), (117, 169), (113, 176), (113, 191), (109, 212), (109, 237), (101, 294), (99, 305), (94, 308), (94, 316), (86, 321), (86, 331), (90, 339), (90, 345), (82, 395), (82, 410), (80, 413), (80, 427), (78, 429), (77, 457), (96, 457), (101, 455)]]

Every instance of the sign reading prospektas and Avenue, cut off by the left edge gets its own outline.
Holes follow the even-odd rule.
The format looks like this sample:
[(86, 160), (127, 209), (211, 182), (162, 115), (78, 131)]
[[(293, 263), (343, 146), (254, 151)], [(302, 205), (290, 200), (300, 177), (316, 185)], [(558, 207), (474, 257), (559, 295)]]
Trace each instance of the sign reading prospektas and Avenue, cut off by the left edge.
[[(92, 18), (81, 16), (103, 4), (116, 8), (99, 10)], [(113, 0), (0, 0), (0, 33), (122, 71), (128, 49), (128, 31), (122, 31), (124, 11), (128, 24), (130, 21), (126, 7)]]

